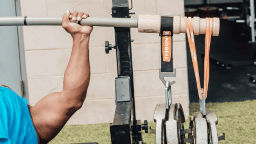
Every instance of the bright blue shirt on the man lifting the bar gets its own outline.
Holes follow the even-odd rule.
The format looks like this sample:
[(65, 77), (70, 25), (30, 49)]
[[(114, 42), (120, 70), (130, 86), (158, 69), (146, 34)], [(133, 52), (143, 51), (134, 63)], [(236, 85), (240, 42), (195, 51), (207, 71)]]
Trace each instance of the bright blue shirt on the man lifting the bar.
[(0, 86), (0, 144), (37, 144), (27, 99)]

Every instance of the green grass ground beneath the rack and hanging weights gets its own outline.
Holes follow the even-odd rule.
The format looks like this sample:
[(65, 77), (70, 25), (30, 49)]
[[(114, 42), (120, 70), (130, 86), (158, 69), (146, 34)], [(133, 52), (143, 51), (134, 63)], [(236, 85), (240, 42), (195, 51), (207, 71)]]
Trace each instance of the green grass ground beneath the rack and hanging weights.
[[(200, 112), (199, 103), (189, 104), (189, 117)], [(219, 144), (253, 144), (256, 142), (256, 100), (229, 103), (207, 103), (206, 110), (214, 110), (218, 117), (218, 135), (225, 132), (225, 139)], [(148, 122), (155, 129), (155, 122)], [(189, 119), (184, 123), (188, 128)], [(49, 144), (98, 142), (111, 144), (109, 124), (64, 126)], [(155, 144), (155, 135), (142, 132), (143, 142)]]

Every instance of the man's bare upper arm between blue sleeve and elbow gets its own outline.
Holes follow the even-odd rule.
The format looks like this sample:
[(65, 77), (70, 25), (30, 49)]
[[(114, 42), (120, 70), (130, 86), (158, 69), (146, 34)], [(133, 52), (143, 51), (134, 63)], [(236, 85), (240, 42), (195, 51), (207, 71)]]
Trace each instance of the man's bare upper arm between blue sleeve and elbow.
[(53, 139), (76, 110), (60, 92), (43, 97), (30, 110), (40, 140)]

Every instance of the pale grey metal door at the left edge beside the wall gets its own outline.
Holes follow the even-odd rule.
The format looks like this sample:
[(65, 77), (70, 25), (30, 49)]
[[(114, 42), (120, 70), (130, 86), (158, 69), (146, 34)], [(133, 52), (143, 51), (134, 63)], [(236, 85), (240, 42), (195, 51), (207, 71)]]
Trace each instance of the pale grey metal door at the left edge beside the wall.
[[(0, 16), (16, 16), (15, 0), (1, 0)], [(22, 96), (17, 26), (0, 27), (0, 84)]]

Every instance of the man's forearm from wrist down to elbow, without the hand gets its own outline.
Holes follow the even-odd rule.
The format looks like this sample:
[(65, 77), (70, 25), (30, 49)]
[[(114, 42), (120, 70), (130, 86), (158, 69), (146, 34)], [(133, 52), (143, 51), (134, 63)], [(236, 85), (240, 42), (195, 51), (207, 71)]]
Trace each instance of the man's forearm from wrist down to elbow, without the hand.
[(63, 91), (65, 98), (74, 103), (83, 103), (90, 81), (88, 34), (73, 37), (73, 48), (69, 64), (64, 73)]

